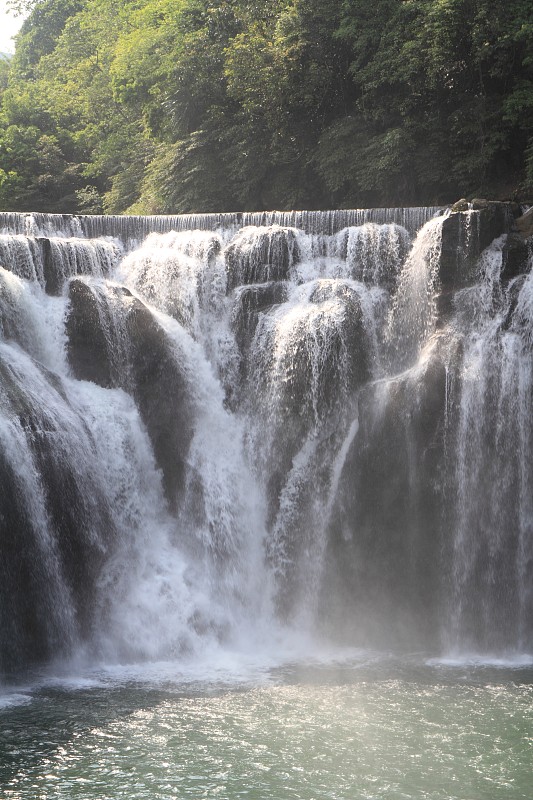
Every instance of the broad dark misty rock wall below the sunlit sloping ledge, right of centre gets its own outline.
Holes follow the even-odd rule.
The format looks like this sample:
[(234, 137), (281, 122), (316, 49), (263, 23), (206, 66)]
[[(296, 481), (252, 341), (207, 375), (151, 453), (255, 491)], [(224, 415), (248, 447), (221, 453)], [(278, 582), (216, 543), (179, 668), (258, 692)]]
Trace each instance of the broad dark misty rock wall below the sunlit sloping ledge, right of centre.
[(447, 403), (461, 353), (444, 331), (416, 368), (360, 393), (322, 598), (324, 624), (357, 644), (436, 643)]

